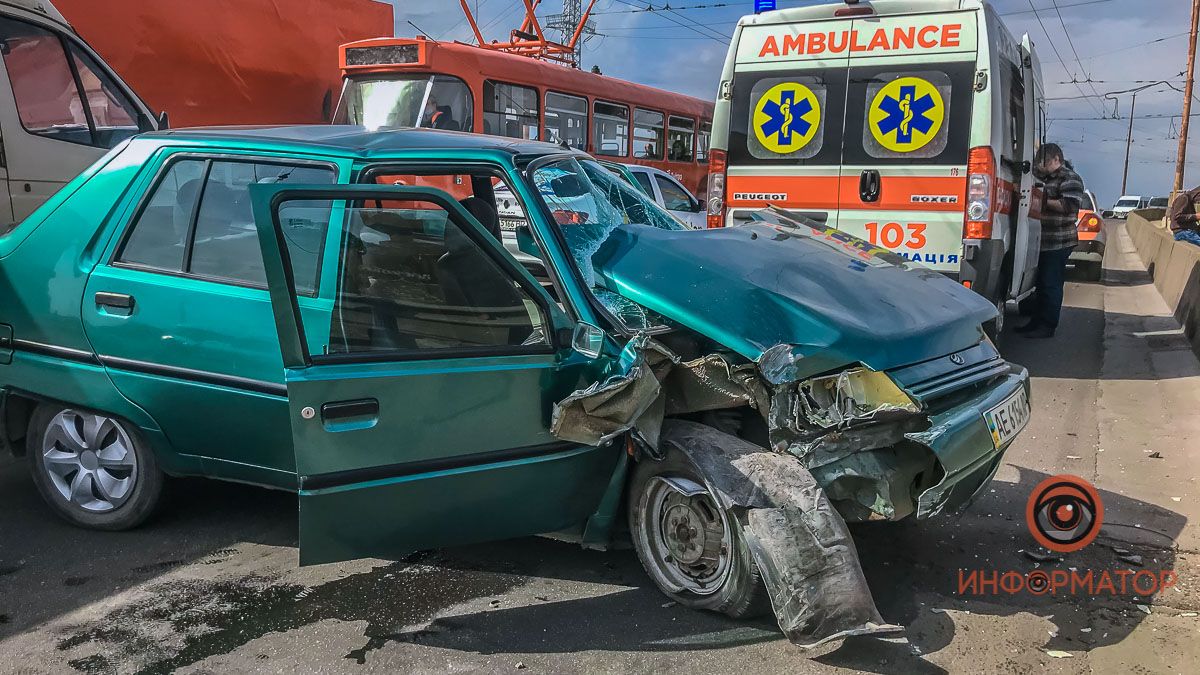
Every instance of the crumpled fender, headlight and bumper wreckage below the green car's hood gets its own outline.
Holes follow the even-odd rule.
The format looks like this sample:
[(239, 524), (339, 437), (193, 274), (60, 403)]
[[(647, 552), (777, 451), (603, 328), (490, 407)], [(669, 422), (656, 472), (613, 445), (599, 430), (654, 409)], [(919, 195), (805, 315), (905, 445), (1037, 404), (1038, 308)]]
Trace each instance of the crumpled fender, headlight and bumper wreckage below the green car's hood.
[[(800, 422), (799, 383), (772, 382), (794, 363), (768, 359), (768, 375), (762, 364), (737, 364), (720, 353), (684, 362), (641, 335), (605, 381), (554, 406), (551, 430), (590, 444), (630, 432), (654, 458), (664, 455), (664, 444), (685, 453), (744, 528), (780, 628), (793, 643), (812, 646), (898, 631), (875, 608), (847, 520), (959, 509), (995, 474), (1007, 444), (995, 446), (984, 413), (1022, 387), (1027, 393), (1028, 374), (998, 354), (985, 357), (972, 356), (959, 386), (922, 375), (932, 377), (925, 389), (938, 400), (955, 401), (948, 407), (932, 405), (930, 413), (889, 405), (872, 408), (866, 420), (846, 417), (845, 425), (814, 429)], [(756, 411), (770, 448), (671, 419), (728, 408)]]

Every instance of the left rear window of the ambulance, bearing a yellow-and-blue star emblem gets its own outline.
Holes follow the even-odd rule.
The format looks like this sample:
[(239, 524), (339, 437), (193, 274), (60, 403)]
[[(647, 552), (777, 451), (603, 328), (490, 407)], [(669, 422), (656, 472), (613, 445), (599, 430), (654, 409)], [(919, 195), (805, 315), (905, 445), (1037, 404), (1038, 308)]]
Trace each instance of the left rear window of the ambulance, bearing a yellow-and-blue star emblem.
[(808, 160), (824, 144), (827, 88), (816, 77), (760, 79), (750, 90), (746, 149), (760, 160)]

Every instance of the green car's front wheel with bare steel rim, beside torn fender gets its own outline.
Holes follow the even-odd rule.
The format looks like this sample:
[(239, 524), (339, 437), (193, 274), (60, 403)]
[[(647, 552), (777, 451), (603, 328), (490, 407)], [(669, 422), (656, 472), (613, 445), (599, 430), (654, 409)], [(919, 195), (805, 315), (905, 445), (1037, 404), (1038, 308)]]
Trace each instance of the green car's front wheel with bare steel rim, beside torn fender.
[(678, 452), (635, 467), (629, 528), (642, 567), (679, 604), (734, 619), (770, 609), (740, 525)]

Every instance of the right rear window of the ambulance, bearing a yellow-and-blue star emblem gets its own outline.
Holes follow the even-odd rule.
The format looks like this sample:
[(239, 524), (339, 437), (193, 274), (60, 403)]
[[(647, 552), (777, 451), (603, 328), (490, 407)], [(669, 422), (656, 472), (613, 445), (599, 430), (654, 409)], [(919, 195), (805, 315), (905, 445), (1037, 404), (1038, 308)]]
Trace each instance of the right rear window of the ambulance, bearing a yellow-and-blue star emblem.
[(937, 71), (884, 72), (866, 82), (863, 147), (872, 157), (936, 157), (950, 125), (950, 78)]

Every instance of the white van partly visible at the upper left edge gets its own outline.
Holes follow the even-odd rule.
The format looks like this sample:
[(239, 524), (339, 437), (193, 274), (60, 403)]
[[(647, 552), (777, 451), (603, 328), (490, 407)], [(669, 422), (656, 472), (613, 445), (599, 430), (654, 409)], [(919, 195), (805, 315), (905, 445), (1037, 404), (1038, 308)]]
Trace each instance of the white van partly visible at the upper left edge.
[(48, 0), (0, 0), (0, 232), (121, 141), (164, 125)]

